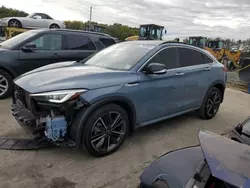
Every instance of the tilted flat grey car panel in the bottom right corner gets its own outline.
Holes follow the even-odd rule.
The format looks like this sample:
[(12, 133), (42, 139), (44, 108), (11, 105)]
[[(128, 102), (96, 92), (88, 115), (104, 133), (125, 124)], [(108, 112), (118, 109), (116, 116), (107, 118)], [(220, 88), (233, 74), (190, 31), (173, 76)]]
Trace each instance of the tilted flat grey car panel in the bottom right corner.
[(250, 186), (249, 145), (209, 131), (199, 131), (198, 138), (214, 177), (236, 187)]

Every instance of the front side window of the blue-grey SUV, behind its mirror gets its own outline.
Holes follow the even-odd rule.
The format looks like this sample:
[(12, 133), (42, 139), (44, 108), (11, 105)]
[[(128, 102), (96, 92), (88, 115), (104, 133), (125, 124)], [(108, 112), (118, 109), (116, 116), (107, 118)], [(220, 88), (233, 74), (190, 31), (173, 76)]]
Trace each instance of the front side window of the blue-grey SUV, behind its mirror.
[(166, 48), (157, 53), (149, 62), (165, 64), (167, 69), (174, 69), (177, 67), (177, 49)]

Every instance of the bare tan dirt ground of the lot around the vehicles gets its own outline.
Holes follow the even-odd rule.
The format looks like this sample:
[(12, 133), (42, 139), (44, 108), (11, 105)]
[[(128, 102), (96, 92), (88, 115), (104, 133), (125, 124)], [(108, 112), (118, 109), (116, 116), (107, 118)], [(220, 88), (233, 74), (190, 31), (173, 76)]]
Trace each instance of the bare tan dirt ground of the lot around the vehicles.
[[(25, 134), (11, 117), (10, 99), (0, 102), (0, 135)], [(163, 153), (197, 144), (197, 131), (221, 133), (249, 116), (250, 95), (227, 89), (217, 116), (204, 121), (188, 114), (138, 130), (123, 147), (105, 158), (92, 158), (67, 148), (0, 151), (2, 188), (128, 188), (136, 187), (141, 171)]]

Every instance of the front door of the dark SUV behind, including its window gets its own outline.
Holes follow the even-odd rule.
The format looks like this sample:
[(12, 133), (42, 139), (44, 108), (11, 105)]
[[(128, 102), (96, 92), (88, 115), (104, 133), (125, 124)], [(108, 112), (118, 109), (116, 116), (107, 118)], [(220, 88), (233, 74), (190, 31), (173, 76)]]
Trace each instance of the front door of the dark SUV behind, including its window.
[[(30, 52), (25, 52), (21, 47), (27, 44), (35, 44), (36, 49)], [(18, 52), (19, 62), (24, 67), (24, 71), (28, 72), (33, 69), (55, 63), (54, 53), (62, 49), (62, 35), (45, 33), (35, 39), (28, 41), (22, 45)], [(56, 61), (59, 62), (62, 59), (57, 57)], [(24, 72), (23, 72), (24, 73)]]

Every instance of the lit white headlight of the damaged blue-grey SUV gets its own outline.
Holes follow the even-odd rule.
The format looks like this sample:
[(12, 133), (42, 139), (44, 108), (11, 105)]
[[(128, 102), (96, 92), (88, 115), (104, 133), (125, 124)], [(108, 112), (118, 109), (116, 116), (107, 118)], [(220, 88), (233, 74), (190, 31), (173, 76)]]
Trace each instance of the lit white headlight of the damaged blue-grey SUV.
[(87, 91), (86, 89), (62, 90), (62, 91), (51, 91), (45, 93), (35, 93), (35, 94), (30, 94), (30, 96), (40, 100), (46, 100), (52, 103), (64, 103), (68, 100), (72, 100), (79, 97), (82, 93), (86, 91)]

